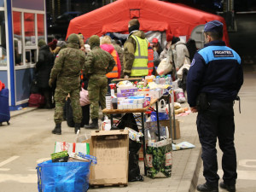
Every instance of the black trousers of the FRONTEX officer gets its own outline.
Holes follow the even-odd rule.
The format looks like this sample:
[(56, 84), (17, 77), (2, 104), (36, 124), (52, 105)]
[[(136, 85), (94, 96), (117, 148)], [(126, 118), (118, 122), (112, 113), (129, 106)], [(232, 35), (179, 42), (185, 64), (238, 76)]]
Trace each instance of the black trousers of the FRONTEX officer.
[(216, 142), (223, 151), (222, 169), (224, 183), (236, 183), (236, 149), (234, 145), (233, 102), (211, 101), (210, 107), (197, 115), (197, 131), (202, 146), (203, 175), (207, 183), (218, 186), (218, 161)]

